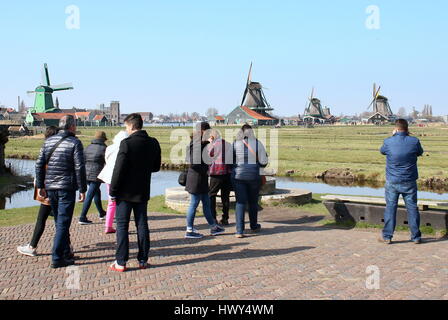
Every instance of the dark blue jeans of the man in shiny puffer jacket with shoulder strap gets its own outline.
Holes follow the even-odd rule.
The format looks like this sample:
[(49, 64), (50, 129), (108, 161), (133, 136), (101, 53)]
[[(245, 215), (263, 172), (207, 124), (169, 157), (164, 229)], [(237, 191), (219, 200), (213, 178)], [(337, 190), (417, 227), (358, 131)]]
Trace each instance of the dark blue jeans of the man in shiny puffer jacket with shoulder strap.
[(70, 225), (75, 209), (76, 191), (51, 190), (48, 191), (48, 198), (56, 226), (52, 259), (57, 263), (63, 261), (70, 252)]

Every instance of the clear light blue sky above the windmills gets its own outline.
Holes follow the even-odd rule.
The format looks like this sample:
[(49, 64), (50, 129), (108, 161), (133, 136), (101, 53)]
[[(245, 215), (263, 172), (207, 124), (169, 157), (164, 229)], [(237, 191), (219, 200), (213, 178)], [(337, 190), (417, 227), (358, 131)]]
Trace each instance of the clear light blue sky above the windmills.
[(333, 114), (362, 113), (374, 82), (395, 112), (448, 114), (447, 16), (446, 0), (1, 1), (0, 104), (32, 105), (48, 63), (52, 84), (74, 85), (64, 108), (227, 114), (253, 62), (276, 115), (302, 113), (312, 87)]

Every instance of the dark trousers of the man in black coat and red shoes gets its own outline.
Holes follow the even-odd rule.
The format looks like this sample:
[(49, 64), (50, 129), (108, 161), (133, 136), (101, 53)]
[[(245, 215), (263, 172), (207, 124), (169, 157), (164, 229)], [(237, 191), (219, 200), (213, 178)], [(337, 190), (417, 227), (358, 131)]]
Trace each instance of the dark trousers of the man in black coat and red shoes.
[(116, 260), (120, 266), (129, 260), (129, 222), (131, 211), (134, 211), (135, 226), (137, 227), (137, 242), (139, 262), (148, 262), (149, 258), (149, 226), (148, 202), (128, 202), (117, 200), (117, 251)]

